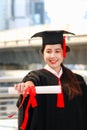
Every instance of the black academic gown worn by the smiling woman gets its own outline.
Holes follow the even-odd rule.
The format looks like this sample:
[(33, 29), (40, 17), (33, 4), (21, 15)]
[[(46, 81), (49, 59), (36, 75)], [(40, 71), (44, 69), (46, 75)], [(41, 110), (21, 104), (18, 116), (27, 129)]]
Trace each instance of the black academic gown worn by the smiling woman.
[[(64, 70), (63, 70), (64, 72)], [(64, 80), (64, 73), (61, 76), (61, 83)], [(56, 107), (56, 94), (38, 94), (36, 96), (38, 106), (29, 109), (29, 120), (25, 130), (87, 130), (87, 85), (84, 79), (76, 75), (83, 91), (82, 96), (77, 96), (69, 100), (64, 93), (64, 108)], [(57, 85), (58, 78), (51, 72), (41, 69), (32, 71), (23, 79), (23, 82), (31, 80), (36, 86)], [(63, 84), (62, 84), (63, 86)], [(24, 112), (27, 105), (26, 98), (22, 108), (19, 111), (18, 124), (23, 122)], [(17, 105), (21, 102), (19, 97)]]

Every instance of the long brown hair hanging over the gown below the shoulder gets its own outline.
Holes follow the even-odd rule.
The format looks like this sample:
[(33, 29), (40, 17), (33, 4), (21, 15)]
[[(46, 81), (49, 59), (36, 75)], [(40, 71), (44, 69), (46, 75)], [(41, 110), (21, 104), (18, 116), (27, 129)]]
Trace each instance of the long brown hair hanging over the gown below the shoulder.
[[(63, 66), (63, 64), (62, 64)], [(73, 97), (77, 95), (82, 95), (82, 90), (80, 87), (80, 82), (77, 80), (76, 75), (63, 66), (63, 86), (64, 89), (69, 97), (69, 99), (72, 99)]]

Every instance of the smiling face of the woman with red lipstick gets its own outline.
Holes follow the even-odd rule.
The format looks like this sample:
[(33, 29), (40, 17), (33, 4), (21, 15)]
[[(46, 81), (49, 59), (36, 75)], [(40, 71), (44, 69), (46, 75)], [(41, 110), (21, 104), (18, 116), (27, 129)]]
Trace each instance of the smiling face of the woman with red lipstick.
[(63, 49), (61, 44), (46, 45), (43, 57), (46, 64), (59, 72), (61, 63), (63, 62)]

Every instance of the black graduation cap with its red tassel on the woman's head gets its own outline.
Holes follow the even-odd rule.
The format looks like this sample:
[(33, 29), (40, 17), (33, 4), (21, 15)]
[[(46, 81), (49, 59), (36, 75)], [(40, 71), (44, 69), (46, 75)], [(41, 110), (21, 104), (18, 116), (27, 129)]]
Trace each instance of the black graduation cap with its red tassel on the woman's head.
[(42, 37), (42, 48), (47, 45), (47, 44), (62, 44), (63, 51), (64, 51), (64, 57), (66, 55), (65, 52), (70, 51), (70, 48), (66, 46), (66, 41), (65, 41), (65, 36), (64, 34), (72, 34), (74, 33), (65, 31), (65, 30), (49, 30), (49, 31), (42, 31), (34, 34), (31, 38), (33, 37)]

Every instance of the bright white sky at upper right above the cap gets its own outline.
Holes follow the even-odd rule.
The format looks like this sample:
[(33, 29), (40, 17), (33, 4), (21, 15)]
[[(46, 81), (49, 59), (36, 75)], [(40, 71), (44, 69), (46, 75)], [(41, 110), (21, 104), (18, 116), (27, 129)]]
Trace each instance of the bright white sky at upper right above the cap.
[(87, 33), (87, 0), (45, 0), (45, 10), (55, 27)]

